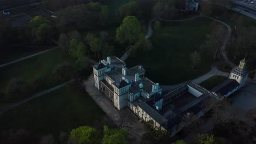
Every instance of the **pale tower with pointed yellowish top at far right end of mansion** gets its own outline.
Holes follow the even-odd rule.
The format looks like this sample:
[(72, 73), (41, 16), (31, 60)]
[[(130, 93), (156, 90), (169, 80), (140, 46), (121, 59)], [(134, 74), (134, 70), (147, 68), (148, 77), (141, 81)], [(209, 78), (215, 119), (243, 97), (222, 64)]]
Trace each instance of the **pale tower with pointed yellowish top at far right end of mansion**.
[(248, 77), (248, 70), (246, 69), (246, 59), (242, 59), (240, 64), (234, 67), (229, 74), (229, 79), (234, 79), (240, 83), (239, 88), (245, 85), (246, 79)]

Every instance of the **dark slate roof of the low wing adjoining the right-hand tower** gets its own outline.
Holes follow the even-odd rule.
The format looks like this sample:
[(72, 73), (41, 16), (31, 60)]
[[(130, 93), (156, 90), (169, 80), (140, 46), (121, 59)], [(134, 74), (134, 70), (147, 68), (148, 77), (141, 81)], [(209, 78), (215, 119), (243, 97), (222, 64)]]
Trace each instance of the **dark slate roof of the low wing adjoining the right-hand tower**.
[(228, 79), (217, 87), (214, 87), (211, 91), (215, 92), (216, 94), (226, 95), (239, 85), (240, 84), (236, 80)]

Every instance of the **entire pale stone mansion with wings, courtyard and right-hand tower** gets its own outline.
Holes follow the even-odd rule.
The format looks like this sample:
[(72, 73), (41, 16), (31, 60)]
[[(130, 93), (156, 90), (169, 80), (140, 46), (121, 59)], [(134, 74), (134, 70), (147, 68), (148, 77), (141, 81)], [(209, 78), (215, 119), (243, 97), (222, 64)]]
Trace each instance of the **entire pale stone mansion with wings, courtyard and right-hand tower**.
[(93, 65), (94, 85), (113, 101), (118, 110), (129, 107), (142, 121), (152, 119), (155, 127), (174, 136), (187, 125), (184, 116), (193, 114), (193, 120), (210, 110), (208, 101), (218, 99), (218, 95), (228, 97), (243, 85), (248, 71), (243, 59), (238, 67), (231, 70), (229, 79), (211, 91), (193, 81), (162, 93), (159, 83), (145, 77), (146, 70), (141, 65), (127, 68), (119, 58), (107, 57)]

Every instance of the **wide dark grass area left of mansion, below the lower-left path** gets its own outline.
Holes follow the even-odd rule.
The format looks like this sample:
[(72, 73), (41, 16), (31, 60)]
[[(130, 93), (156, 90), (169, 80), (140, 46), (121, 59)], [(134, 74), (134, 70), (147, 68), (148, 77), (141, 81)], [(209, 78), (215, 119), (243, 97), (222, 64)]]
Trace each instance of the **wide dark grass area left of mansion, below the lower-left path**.
[(0, 131), (26, 129), (58, 135), (82, 125), (95, 126), (105, 113), (86, 92), (71, 86), (28, 101), (0, 116)]

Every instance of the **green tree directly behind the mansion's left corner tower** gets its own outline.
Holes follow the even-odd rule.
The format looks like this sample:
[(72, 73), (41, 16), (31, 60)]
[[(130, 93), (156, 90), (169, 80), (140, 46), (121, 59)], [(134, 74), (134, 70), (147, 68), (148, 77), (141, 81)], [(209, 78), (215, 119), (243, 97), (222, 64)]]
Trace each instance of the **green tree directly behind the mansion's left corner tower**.
[(98, 59), (100, 59), (100, 52), (102, 50), (101, 40), (97, 38), (95, 34), (88, 33), (85, 37), (85, 41), (90, 46), (91, 51), (97, 53)]

